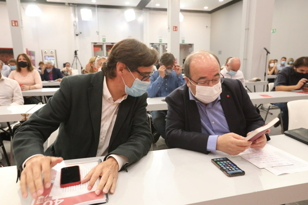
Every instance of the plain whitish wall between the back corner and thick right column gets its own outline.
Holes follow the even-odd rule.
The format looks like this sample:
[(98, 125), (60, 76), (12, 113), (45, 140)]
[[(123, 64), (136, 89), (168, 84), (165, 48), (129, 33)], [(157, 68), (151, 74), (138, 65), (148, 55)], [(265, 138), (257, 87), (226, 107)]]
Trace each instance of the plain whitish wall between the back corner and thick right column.
[(210, 50), (218, 56), (221, 65), (228, 57), (240, 55), (242, 6), (240, 1), (211, 14)]

